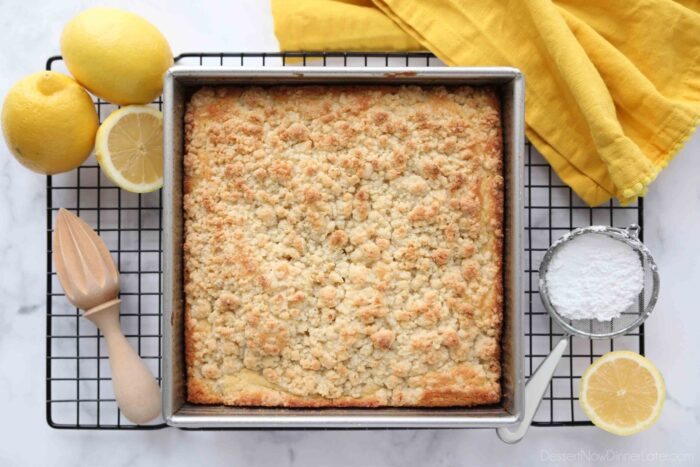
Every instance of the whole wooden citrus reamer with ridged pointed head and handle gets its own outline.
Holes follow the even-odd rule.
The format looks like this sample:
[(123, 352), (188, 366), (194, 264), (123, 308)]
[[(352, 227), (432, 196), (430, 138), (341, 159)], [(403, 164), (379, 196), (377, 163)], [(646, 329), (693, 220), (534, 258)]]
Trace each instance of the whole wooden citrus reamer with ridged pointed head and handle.
[(119, 272), (107, 246), (82, 219), (61, 208), (53, 232), (53, 260), (66, 297), (105, 336), (117, 405), (134, 423), (160, 414), (158, 383), (119, 324)]

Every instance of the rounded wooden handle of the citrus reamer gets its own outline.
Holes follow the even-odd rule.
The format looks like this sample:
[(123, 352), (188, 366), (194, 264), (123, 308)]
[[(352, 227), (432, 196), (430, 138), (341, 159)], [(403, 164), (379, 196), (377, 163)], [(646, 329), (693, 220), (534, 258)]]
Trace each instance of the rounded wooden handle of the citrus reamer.
[(142, 424), (160, 414), (160, 388), (151, 371), (122, 333), (119, 302), (120, 300), (112, 300), (92, 308), (85, 316), (97, 325), (107, 341), (117, 405), (126, 418)]

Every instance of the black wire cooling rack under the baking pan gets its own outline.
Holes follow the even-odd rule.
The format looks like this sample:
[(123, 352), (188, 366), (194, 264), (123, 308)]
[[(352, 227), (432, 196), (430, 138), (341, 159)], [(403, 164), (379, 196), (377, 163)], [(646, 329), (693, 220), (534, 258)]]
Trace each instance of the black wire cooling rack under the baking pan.
[[(427, 53), (184, 53), (178, 64), (206, 66), (443, 66)], [(47, 70), (64, 71), (61, 57), (51, 57)], [(162, 107), (162, 101), (154, 102)], [(95, 100), (100, 121), (116, 107)], [(552, 172), (527, 143), (525, 165), (525, 270), (527, 310), (524, 319), (524, 372), (532, 374), (561, 331), (537, 297), (537, 270), (547, 247), (565, 232), (593, 224), (643, 226), (642, 201), (631, 206), (609, 202), (587, 207)], [(110, 378), (102, 335), (62, 293), (51, 259), (51, 233), (58, 209), (69, 209), (105, 240), (116, 259), (122, 285), (121, 324), (127, 339), (161, 378), (161, 194), (137, 195), (115, 187), (90, 158), (72, 172), (46, 179), (46, 418), (54, 428), (157, 429), (162, 421), (136, 426), (121, 416)], [(643, 232), (643, 230), (642, 230)], [(614, 340), (571, 342), (545, 394), (534, 425), (590, 425), (578, 402), (581, 374), (598, 356), (612, 349), (644, 352), (644, 327)]]

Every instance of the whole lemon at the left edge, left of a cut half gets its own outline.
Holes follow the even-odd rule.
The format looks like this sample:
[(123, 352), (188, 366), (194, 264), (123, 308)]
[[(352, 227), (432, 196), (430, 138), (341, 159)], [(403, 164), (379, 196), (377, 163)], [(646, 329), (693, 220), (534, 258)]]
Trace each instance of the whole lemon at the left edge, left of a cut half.
[(90, 95), (53, 71), (19, 80), (2, 106), (2, 131), (12, 154), (43, 174), (66, 172), (88, 158), (99, 121)]

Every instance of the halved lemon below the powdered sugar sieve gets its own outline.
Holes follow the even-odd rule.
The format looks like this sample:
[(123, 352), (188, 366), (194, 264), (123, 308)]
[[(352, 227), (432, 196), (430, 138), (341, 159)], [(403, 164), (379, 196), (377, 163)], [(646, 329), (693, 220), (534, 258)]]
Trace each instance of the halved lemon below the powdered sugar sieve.
[(579, 402), (593, 424), (620, 436), (644, 431), (658, 420), (666, 398), (661, 373), (634, 352), (609, 352), (581, 378)]

